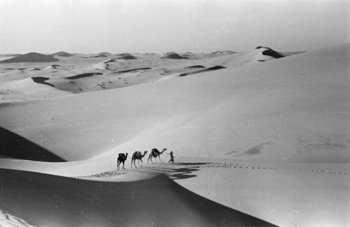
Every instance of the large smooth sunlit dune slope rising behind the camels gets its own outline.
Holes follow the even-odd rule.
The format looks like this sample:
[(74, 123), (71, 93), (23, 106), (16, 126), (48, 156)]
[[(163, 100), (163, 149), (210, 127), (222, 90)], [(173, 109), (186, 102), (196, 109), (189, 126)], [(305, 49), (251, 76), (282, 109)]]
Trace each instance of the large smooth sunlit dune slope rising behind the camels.
[(349, 46), (123, 89), (1, 106), (1, 126), (62, 159), (183, 156), (349, 162)]

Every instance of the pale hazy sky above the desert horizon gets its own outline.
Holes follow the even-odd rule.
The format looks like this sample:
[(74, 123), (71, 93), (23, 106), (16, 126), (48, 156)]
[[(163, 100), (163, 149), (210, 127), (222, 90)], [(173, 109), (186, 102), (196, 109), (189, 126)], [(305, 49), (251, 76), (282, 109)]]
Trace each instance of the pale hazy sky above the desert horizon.
[(315, 50), (349, 43), (348, 0), (1, 0), (0, 54)]

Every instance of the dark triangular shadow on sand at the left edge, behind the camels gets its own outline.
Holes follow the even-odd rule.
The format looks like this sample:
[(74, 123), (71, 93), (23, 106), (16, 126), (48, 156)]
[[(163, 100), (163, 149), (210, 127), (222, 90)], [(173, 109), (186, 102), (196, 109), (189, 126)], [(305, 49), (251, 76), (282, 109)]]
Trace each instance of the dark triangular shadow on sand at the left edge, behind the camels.
[(47, 149), (0, 127), (0, 156), (31, 161), (63, 162)]

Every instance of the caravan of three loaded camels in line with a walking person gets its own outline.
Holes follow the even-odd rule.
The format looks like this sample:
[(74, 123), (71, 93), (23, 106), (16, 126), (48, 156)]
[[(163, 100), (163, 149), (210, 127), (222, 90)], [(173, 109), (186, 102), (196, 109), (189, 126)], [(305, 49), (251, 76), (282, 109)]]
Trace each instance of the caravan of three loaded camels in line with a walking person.
[[(156, 148), (153, 148), (151, 150), (151, 154), (148, 156), (148, 159), (147, 159), (147, 163), (150, 161), (151, 159), (151, 163), (155, 163), (157, 157), (159, 159), (160, 162), (162, 162), (162, 160), (160, 160), (160, 154), (163, 154), (165, 151), (167, 150), (167, 148), (164, 148), (162, 149), (162, 152), (158, 151), (158, 149)], [(147, 154), (148, 152), (147, 151), (144, 151), (144, 154), (141, 154), (141, 152), (137, 151), (137, 152), (134, 152), (134, 154), (132, 154), (132, 161), (131, 161), (131, 168), (132, 168), (132, 163), (134, 163), (134, 166), (135, 168), (137, 168), (136, 164), (135, 164), (135, 161), (138, 161), (139, 163), (139, 167), (142, 166), (142, 163), (144, 163), (142, 161), (142, 158)], [(152, 161), (152, 159), (154, 158), (154, 162)], [(125, 169), (124, 168), (124, 163), (125, 163), (125, 160), (127, 160), (127, 153), (119, 153), (118, 154), (118, 159), (117, 159), (117, 170), (123, 170)], [(141, 165), (140, 165), (140, 161), (141, 161)], [(174, 163), (174, 155), (173, 155), (173, 152), (170, 152), (170, 160), (168, 161), (169, 162), (172, 162)], [(120, 168), (120, 164), (123, 163), (123, 167)]]

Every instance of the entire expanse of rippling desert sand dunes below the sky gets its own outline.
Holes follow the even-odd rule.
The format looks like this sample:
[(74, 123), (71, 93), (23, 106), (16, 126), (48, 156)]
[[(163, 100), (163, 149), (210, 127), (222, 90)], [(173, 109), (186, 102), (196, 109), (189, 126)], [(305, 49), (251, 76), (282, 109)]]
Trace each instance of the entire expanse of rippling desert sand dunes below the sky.
[(0, 225), (349, 226), (349, 44), (14, 57)]

